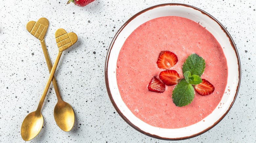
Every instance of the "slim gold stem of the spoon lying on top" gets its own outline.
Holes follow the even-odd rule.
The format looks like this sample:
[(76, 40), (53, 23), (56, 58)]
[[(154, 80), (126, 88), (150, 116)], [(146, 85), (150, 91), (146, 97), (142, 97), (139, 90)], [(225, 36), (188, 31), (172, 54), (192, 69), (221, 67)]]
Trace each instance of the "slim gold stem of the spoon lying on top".
[(56, 71), (56, 68), (57, 68), (57, 66), (58, 66), (58, 63), (59, 63), (59, 59), (60, 59), (61, 54), (62, 54), (62, 52), (58, 52), (58, 55), (57, 55), (57, 57), (56, 57), (56, 60), (55, 60), (55, 62), (54, 62), (54, 64), (53, 64), (53, 68), (52, 68), (52, 70), (51, 70), (50, 76), (49, 76), (48, 81), (47, 81), (47, 83), (46, 83), (46, 86), (45, 86), (45, 88), (44, 88), (44, 92), (43, 92), (43, 94), (42, 94), (42, 97), (41, 97), (41, 99), (40, 99), (40, 101), (39, 101), (39, 104), (38, 104), (38, 107), (37, 107), (37, 109), (36, 109), (38, 112), (41, 112), (41, 109), (42, 109), (42, 106), (43, 106), (43, 103), (44, 103), (44, 99), (45, 99), (46, 94), (47, 94), (47, 92), (48, 92), (48, 89), (49, 89), (49, 87), (50, 87), (50, 85), (51, 85), (51, 82), (52, 82), (52, 80), (53, 80), (54, 72)]

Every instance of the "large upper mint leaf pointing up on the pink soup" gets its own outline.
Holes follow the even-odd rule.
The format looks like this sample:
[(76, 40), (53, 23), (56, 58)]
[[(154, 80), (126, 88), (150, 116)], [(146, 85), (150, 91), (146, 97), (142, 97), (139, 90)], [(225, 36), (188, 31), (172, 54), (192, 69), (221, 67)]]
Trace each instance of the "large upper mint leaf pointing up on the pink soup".
[(191, 54), (182, 65), (183, 74), (190, 71), (191, 75), (201, 76), (205, 68), (204, 59), (197, 54)]

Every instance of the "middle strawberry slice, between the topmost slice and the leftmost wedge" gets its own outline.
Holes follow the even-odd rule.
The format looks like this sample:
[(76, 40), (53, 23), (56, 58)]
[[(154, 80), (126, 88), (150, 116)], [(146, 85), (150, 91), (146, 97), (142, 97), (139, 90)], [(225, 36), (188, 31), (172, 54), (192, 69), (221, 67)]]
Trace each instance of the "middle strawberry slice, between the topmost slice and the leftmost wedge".
[(167, 86), (176, 85), (180, 79), (180, 75), (177, 71), (167, 70), (161, 71), (159, 74), (159, 78), (162, 82)]

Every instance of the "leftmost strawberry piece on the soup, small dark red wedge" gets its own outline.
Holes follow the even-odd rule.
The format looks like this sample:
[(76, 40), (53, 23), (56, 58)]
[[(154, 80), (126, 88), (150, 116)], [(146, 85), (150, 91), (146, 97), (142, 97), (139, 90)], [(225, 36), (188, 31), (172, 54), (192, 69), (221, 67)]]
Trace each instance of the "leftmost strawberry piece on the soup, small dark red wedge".
[(165, 85), (154, 76), (148, 85), (148, 90), (162, 93), (165, 90)]

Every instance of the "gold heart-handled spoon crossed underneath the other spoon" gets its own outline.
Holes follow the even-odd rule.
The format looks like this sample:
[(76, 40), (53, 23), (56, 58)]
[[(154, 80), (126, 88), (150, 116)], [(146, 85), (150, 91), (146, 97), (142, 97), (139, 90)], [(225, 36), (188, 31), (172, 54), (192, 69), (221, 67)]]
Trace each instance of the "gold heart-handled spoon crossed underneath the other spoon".
[[(44, 42), (44, 37), (48, 29), (48, 26), (49, 26), (49, 21), (46, 18), (40, 18), (37, 22), (34, 22), (34, 21), (28, 22), (26, 28), (32, 35), (34, 35), (37, 39), (40, 40), (44, 57), (48, 66), (48, 70), (49, 72), (51, 72), (52, 64), (51, 64), (51, 61), (45, 46), (45, 42)], [(69, 103), (66, 103), (61, 99), (57, 82), (54, 76), (53, 76), (52, 82), (53, 82), (53, 87), (58, 99), (58, 102), (55, 105), (54, 111), (53, 111), (54, 119), (60, 129), (62, 129), (63, 131), (69, 132), (72, 129), (75, 121), (74, 111)]]

